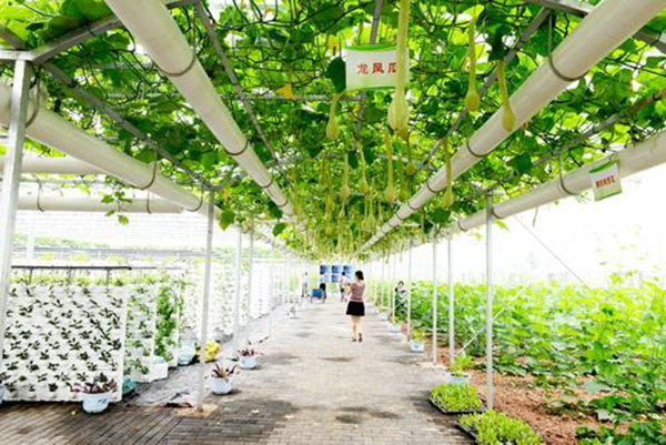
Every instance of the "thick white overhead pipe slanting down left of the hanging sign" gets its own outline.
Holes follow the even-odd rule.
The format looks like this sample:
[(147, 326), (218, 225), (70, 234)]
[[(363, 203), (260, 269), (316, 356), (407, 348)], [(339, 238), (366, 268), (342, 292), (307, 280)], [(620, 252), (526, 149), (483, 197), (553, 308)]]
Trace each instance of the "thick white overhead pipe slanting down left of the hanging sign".
[(159, 0), (107, 0), (107, 4), (188, 100), (226, 152), (284, 214), (293, 215), (293, 208), (284, 192), (220, 100), (215, 87), (167, 7)]

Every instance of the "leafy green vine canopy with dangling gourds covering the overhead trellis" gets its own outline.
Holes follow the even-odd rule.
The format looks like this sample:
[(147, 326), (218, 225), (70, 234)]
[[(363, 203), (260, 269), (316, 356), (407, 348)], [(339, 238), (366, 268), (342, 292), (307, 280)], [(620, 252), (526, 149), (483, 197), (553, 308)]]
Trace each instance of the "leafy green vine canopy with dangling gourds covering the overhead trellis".
[[(158, 24), (130, 23), (131, 3), (7, 0), (0, 37), (37, 64), (34, 95), (46, 108), (143, 163), (157, 156), (160, 171), (194, 194), (214, 192), (223, 227), (263, 220), (307, 256), (401, 249), (404, 240), (445, 233), (482, 210), (490, 190), (505, 201), (664, 128), (666, 12), (655, 0), (167, 1), (173, 36), (193, 49), (191, 63), (178, 39), (151, 43)], [(405, 4), (406, 134), (387, 122), (393, 89), (345, 85), (347, 49), (400, 43)], [(582, 43), (574, 41), (578, 27), (588, 38)], [(587, 53), (591, 60), (567, 59)], [(215, 98), (188, 79), (196, 59), (196, 85), (208, 77)], [(576, 62), (581, 73), (564, 71)], [(9, 84), (12, 65), (0, 70)], [(557, 87), (552, 98), (525, 90), (538, 75), (539, 91)], [(473, 83), (477, 109), (466, 100)], [(516, 92), (543, 108), (523, 111)], [(203, 101), (220, 108), (209, 112)], [(485, 145), (481, 132), (508, 103), (519, 124), (503, 122), (512, 128)], [(129, 185), (114, 186), (121, 199)], [(431, 189), (438, 193), (421, 199)]]

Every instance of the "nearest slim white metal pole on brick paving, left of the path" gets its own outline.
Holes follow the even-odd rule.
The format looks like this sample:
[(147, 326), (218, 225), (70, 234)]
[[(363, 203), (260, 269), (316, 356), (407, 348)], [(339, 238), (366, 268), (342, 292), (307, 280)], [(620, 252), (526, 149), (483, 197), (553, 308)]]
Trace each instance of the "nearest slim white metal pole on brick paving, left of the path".
[(208, 205), (208, 232), (205, 237), (205, 269), (203, 279), (203, 304), (201, 305), (201, 346), (199, 348), (199, 370), (196, 383), (196, 409), (203, 411), (203, 390), (205, 372), (205, 343), (208, 342), (209, 302), (211, 299), (211, 279), (213, 262), (213, 220), (215, 214), (215, 193), (211, 192)]

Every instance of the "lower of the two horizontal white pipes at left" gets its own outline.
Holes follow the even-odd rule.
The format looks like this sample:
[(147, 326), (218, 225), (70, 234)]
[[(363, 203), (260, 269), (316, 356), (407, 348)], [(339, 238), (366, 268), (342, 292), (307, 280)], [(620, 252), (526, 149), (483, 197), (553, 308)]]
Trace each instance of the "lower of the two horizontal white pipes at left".
[(39, 212), (182, 213), (180, 205), (160, 199), (133, 199), (131, 202), (103, 203), (90, 196), (19, 196), (19, 210)]

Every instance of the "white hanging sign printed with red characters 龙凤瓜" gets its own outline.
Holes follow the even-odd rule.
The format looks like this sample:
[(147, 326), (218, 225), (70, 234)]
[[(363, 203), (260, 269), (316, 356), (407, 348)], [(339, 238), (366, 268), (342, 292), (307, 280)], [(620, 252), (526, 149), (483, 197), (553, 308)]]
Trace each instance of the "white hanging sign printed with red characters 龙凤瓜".
[[(372, 90), (395, 87), (397, 69), (394, 44), (351, 47), (346, 54), (346, 90)], [(408, 68), (405, 68), (408, 71)]]

